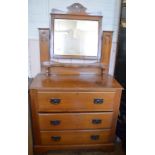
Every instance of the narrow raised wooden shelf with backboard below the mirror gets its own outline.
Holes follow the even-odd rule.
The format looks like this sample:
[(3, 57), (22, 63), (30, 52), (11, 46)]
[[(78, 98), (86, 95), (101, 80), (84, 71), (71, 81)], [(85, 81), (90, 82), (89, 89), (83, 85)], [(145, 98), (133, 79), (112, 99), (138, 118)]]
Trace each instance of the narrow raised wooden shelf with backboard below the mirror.
[(48, 70), (47, 75), (101, 75), (107, 68), (106, 65), (102, 65), (101, 63), (87, 63), (87, 61), (74, 63), (74, 60), (72, 63), (44, 62), (42, 66), (45, 70)]

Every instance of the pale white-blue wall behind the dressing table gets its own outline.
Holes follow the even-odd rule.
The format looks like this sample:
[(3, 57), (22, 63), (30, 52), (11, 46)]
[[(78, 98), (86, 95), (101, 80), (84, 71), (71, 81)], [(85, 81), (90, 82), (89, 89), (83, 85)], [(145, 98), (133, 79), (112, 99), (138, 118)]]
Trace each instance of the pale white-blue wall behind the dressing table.
[(113, 75), (115, 68), (121, 0), (29, 0), (29, 77), (34, 77), (40, 72), (38, 28), (49, 27), (50, 12), (52, 8), (65, 11), (67, 6), (75, 2), (84, 5), (88, 12), (100, 12), (103, 16), (102, 29), (106, 31), (113, 31), (109, 69), (109, 74)]

